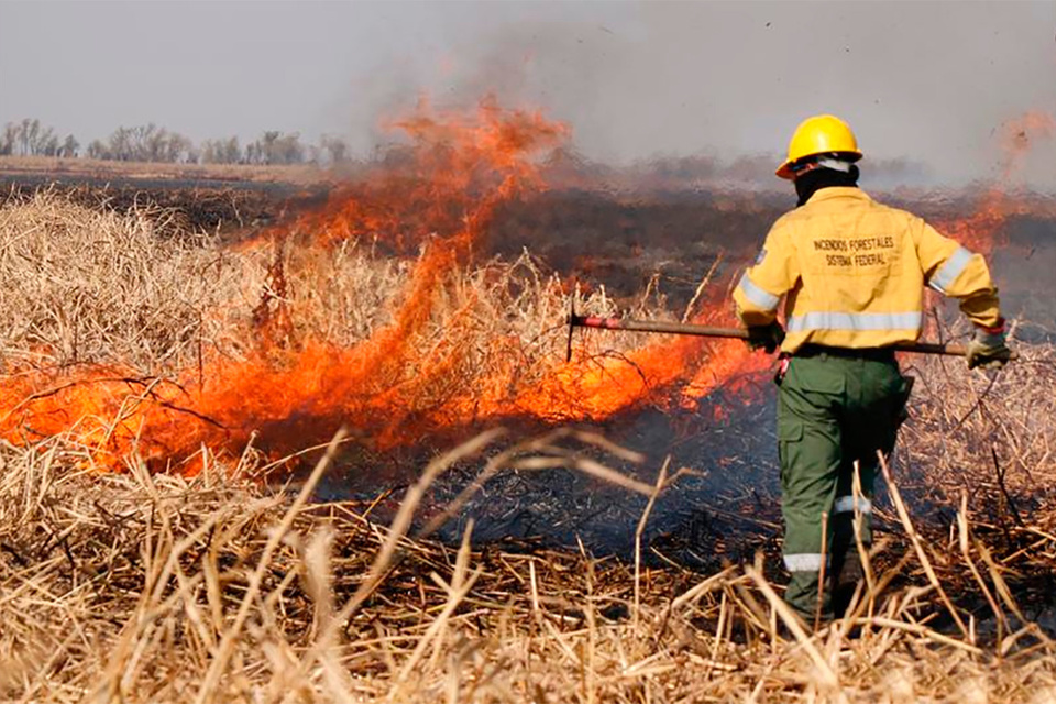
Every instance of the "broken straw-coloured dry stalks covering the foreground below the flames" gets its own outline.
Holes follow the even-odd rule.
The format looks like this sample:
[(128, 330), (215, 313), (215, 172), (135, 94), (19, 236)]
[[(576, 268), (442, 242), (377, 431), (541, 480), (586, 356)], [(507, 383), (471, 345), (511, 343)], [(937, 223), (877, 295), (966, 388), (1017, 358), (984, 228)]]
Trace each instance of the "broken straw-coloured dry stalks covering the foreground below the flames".
[[(59, 439), (6, 449), (0, 686), (33, 701), (130, 702), (1043, 702), (1056, 692), (1053, 644), (1008, 587), (1054, 568), (1056, 538), (1034, 521), (1010, 528), (1023, 544), (1011, 557), (964, 513), (950, 550), (925, 539), (914, 554), (889, 536), (854, 623), (782, 637), (788, 615), (759, 565), (636, 575), (574, 552), (410, 539), (428, 482), (493, 439), (435, 462), (391, 528), (370, 505), (304, 501), (329, 458), (292, 501), (216, 466), (194, 480), (77, 474)], [(526, 441), (492, 466), (530, 468), (572, 440)], [(923, 564), (958, 601), (989, 594), (986, 631), (964, 605), (967, 635), (933, 625), (939, 584), (919, 574)]]

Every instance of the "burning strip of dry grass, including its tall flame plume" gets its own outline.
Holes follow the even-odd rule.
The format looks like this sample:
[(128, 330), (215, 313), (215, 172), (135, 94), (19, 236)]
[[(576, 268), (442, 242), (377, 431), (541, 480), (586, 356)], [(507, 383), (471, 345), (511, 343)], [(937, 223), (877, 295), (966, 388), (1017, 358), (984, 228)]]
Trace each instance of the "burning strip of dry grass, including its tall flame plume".
[[(603, 420), (758, 369), (729, 345), (686, 384), (706, 348), (685, 340), (562, 361), (565, 283), (528, 255), (474, 252), (501, 206), (543, 187), (535, 160), (566, 128), (494, 103), (399, 127), (404, 161), (235, 246), (151, 239), (140, 213), (101, 222), (46, 198), (7, 209), (29, 312), (10, 345), (40, 359), (8, 356), (0, 435), (76, 428), (89, 464), (136, 453), (193, 473), (204, 447), (275, 459), (351, 422), (386, 451), (515, 417)], [(37, 260), (46, 275), (25, 276)], [(612, 308), (604, 290), (579, 302)]]

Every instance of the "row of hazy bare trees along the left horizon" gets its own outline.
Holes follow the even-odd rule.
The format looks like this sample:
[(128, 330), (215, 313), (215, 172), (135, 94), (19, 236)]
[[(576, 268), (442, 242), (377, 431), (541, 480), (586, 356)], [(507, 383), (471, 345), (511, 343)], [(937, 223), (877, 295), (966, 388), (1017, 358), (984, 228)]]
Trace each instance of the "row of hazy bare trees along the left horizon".
[(51, 127), (29, 118), (9, 122), (0, 132), (0, 156), (59, 156), (65, 158), (166, 164), (340, 164), (351, 158), (348, 143), (323, 135), (306, 144), (298, 132), (264, 132), (243, 145), (239, 138), (204, 140), (172, 132), (153, 122), (120, 127), (106, 140), (92, 140), (84, 150), (73, 134), (59, 138)]

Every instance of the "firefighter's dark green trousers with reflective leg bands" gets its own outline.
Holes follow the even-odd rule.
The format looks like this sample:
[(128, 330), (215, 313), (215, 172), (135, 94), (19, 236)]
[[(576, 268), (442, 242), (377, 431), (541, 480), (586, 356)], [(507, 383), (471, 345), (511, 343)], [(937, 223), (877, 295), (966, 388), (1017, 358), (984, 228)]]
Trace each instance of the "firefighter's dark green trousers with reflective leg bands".
[(868, 546), (877, 451), (894, 448), (910, 384), (893, 359), (825, 352), (792, 358), (779, 383), (785, 601), (807, 623), (818, 610), (827, 620), (843, 615), (861, 579), (855, 515)]

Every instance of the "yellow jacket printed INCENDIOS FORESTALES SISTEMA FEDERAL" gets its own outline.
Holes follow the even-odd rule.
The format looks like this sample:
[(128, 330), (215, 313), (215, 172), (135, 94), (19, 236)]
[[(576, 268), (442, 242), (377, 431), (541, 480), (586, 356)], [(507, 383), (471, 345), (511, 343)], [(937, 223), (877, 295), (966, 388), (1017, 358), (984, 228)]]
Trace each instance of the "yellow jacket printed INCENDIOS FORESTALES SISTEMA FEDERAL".
[(980, 254), (858, 188), (829, 187), (778, 219), (734, 301), (741, 322), (765, 326), (788, 295), (784, 352), (807, 342), (880, 348), (917, 339), (925, 284), (959, 298), (976, 324), (999, 324), (998, 292)]

